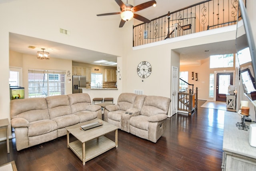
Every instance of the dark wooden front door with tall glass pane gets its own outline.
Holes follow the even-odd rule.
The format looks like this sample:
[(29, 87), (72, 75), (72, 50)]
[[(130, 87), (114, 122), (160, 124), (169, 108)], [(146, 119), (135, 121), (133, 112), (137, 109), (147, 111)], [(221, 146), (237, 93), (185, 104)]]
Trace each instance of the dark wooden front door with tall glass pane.
[(233, 73), (218, 73), (216, 83), (216, 101), (226, 101), (228, 86), (233, 85)]

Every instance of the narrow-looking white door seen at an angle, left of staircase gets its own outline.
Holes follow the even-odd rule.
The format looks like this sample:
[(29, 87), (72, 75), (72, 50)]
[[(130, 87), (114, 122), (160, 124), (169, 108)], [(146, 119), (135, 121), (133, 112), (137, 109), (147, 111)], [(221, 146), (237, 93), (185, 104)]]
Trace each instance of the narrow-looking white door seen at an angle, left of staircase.
[(172, 67), (172, 111), (171, 111), (171, 116), (177, 113), (177, 107), (178, 107), (178, 68), (177, 67)]

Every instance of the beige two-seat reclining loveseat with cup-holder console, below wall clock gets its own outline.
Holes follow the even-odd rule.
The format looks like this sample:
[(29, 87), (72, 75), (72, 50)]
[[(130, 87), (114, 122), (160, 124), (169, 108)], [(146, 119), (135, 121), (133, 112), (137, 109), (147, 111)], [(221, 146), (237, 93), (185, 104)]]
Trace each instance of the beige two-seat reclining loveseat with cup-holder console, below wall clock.
[(170, 98), (121, 93), (116, 105), (104, 110), (104, 120), (154, 143), (166, 129)]

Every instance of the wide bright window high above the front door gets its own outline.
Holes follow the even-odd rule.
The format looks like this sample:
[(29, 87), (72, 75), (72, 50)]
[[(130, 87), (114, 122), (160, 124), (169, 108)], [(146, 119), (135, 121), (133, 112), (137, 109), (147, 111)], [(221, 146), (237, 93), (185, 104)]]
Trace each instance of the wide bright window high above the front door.
[(234, 66), (234, 54), (210, 56), (210, 68), (227, 68)]

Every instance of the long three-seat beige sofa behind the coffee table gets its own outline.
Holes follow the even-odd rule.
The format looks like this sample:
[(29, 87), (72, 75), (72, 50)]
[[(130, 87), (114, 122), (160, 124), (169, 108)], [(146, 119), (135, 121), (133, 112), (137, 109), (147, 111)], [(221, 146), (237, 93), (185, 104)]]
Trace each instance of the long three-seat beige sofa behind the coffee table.
[(102, 119), (101, 107), (91, 105), (87, 93), (14, 99), (10, 102), (11, 125), (20, 151), (66, 135), (65, 127)]

